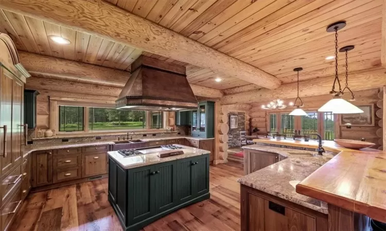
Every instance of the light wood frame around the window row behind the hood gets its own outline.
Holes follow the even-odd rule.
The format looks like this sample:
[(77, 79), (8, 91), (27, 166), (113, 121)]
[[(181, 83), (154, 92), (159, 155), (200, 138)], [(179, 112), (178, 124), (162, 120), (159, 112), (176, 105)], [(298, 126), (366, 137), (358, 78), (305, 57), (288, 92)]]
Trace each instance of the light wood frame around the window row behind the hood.
[[(82, 131), (59, 131), (59, 106), (74, 106), (83, 107), (83, 130)], [(56, 134), (81, 134), (81, 133), (119, 133), (122, 131), (166, 131), (166, 127), (169, 125), (168, 111), (163, 111), (162, 114), (162, 128), (150, 128), (150, 111), (146, 111), (146, 128), (144, 129), (113, 129), (113, 130), (90, 130), (89, 129), (89, 108), (113, 108), (115, 105), (100, 104), (91, 102), (74, 102), (74, 101), (62, 101), (60, 98), (52, 97), (49, 99), (49, 127), (55, 129)]]

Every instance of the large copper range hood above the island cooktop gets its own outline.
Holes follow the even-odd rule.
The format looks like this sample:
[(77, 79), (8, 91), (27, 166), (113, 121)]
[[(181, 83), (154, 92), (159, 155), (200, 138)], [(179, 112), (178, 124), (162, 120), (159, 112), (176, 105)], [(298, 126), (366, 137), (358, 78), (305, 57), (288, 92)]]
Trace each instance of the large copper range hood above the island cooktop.
[(196, 109), (195, 94), (181, 65), (140, 56), (131, 64), (131, 75), (115, 101), (117, 109)]

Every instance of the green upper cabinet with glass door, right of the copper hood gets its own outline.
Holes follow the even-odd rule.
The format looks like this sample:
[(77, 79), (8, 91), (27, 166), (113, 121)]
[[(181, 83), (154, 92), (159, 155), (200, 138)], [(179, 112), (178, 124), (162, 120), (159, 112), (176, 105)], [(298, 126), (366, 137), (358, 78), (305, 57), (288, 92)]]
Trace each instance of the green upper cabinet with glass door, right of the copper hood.
[(199, 138), (215, 137), (215, 102), (204, 101), (192, 111), (191, 136)]

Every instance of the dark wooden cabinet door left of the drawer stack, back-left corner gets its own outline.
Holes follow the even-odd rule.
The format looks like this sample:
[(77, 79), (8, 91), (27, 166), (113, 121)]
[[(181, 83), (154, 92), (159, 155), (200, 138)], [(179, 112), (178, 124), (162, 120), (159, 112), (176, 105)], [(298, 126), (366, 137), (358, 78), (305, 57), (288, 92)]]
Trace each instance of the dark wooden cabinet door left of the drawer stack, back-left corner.
[(32, 153), (32, 186), (52, 184), (52, 150)]

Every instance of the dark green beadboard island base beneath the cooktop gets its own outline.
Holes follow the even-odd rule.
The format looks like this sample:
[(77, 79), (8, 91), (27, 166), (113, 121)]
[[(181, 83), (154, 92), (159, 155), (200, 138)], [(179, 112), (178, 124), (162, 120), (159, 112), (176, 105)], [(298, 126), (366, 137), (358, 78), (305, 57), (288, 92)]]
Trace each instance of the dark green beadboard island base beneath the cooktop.
[(210, 198), (209, 154), (130, 169), (109, 163), (108, 198), (127, 231)]

